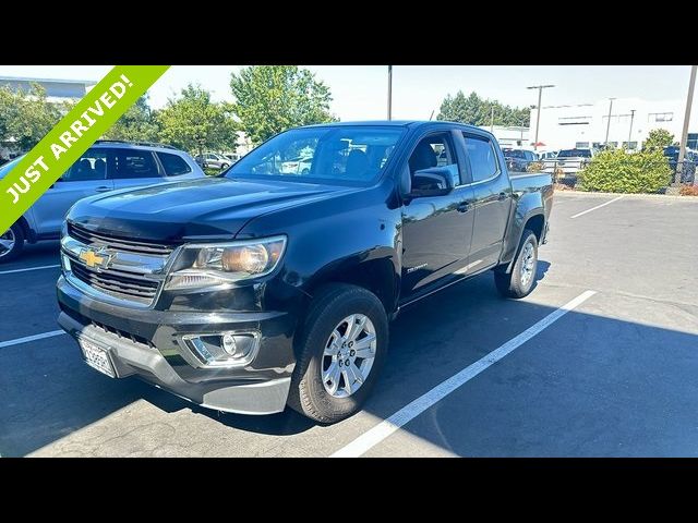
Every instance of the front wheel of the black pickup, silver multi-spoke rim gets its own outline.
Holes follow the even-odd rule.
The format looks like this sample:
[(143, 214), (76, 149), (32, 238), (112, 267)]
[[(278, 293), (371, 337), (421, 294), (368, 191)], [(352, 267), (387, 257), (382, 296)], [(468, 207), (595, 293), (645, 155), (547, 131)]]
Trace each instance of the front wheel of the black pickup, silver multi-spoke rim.
[(369, 397), (388, 348), (381, 301), (356, 285), (315, 295), (300, 332), (288, 404), (322, 423), (356, 414)]

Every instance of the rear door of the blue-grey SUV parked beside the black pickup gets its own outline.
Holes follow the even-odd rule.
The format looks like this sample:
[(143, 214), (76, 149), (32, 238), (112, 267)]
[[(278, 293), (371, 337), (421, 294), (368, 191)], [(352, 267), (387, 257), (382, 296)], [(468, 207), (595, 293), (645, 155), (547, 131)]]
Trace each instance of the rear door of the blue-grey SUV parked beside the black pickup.
[(141, 187), (161, 183), (164, 172), (155, 154), (146, 149), (108, 149), (109, 177), (115, 188)]

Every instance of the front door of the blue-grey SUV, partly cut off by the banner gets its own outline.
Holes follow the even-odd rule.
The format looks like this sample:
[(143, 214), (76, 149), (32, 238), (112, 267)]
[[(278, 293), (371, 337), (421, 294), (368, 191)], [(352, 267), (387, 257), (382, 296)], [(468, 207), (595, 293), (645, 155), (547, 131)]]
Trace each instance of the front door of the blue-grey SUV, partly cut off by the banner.
[(65, 214), (75, 202), (112, 188), (105, 149), (87, 149), (32, 207), (37, 233), (58, 236)]

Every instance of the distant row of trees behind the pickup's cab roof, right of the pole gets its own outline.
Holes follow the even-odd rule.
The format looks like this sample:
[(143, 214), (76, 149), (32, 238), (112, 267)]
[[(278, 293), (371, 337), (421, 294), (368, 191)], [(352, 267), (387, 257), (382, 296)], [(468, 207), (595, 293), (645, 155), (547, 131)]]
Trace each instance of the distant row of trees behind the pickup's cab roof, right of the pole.
[(490, 125), (494, 109), (494, 125), (528, 126), (530, 110), (505, 106), (497, 100), (484, 100), (477, 93), (466, 98), (462, 90), (456, 96), (447, 95), (442, 101), (438, 120), (469, 123), (471, 125)]

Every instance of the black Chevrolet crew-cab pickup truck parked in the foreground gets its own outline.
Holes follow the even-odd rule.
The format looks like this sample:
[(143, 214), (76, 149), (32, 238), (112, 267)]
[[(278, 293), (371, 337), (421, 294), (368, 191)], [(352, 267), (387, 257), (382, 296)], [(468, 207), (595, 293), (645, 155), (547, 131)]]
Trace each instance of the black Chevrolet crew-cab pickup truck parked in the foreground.
[(75, 204), (59, 323), (108, 376), (337, 422), (369, 396), (401, 308), (485, 270), (505, 296), (531, 291), (552, 196), (477, 127), (292, 129), (220, 178)]

